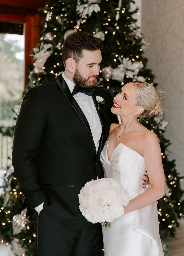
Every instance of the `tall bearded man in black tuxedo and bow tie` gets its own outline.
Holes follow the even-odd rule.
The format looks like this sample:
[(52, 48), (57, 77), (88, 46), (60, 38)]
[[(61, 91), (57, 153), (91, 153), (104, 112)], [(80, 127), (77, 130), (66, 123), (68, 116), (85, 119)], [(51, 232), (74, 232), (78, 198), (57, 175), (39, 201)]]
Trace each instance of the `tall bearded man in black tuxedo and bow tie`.
[(78, 194), (87, 181), (103, 177), (100, 152), (115, 122), (112, 97), (95, 86), (102, 46), (85, 32), (68, 35), (65, 71), (31, 88), (21, 104), (12, 163), (28, 214), (33, 210), (38, 256), (98, 254), (101, 224), (82, 216)]

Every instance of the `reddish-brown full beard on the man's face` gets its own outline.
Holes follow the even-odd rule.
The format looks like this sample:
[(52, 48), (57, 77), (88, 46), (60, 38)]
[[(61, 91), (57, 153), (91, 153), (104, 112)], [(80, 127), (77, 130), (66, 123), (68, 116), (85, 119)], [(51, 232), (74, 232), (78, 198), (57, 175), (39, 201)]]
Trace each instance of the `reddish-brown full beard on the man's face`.
[(73, 81), (76, 85), (79, 85), (82, 88), (92, 88), (96, 85), (97, 80), (94, 79), (92, 81), (89, 81), (90, 77), (97, 77), (97, 76), (89, 76), (88, 78), (84, 78), (80, 73), (78, 68), (75, 70), (75, 74), (73, 77)]

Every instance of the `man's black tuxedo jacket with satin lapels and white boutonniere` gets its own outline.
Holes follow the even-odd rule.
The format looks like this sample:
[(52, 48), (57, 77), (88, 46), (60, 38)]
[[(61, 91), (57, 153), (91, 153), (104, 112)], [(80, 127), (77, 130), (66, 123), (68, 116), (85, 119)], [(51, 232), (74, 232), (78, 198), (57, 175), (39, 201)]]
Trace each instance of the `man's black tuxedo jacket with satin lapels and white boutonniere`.
[[(99, 110), (95, 95), (105, 100)], [(103, 127), (97, 153), (88, 121), (61, 75), (26, 93), (15, 126), (12, 163), (28, 208), (45, 202), (47, 214), (66, 224), (84, 221), (80, 189), (103, 177), (100, 152), (112, 121), (112, 97), (98, 87), (92, 97)]]

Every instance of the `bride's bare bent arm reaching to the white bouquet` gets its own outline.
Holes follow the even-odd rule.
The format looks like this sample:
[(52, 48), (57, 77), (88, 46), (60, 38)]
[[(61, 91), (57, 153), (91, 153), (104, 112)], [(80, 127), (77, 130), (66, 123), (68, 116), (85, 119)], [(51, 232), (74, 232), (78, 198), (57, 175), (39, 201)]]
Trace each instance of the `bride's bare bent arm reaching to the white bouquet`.
[(141, 209), (165, 195), (165, 176), (161, 159), (161, 149), (155, 133), (147, 133), (143, 144), (144, 162), (151, 188), (129, 201), (124, 213)]

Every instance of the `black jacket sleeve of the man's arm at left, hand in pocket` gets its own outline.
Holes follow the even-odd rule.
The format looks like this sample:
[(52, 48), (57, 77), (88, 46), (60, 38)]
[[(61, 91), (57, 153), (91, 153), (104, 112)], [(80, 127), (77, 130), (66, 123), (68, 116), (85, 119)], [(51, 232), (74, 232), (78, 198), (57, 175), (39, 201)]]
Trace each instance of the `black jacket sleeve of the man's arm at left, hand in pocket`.
[(14, 171), (30, 209), (46, 200), (37, 163), (46, 123), (47, 109), (44, 97), (38, 87), (31, 88), (21, 104), (15, 125), (12, 152)]

